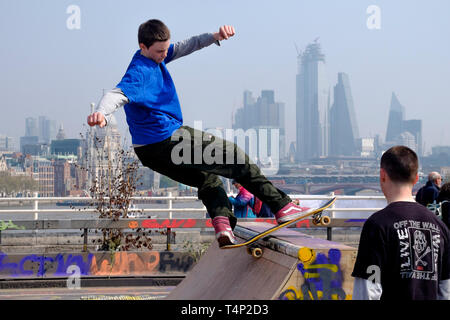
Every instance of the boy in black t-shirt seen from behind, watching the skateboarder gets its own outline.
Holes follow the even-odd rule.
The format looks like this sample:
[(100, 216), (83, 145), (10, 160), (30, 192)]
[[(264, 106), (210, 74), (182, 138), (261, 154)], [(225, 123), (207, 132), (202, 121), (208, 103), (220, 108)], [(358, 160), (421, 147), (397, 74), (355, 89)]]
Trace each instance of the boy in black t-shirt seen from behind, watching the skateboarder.
[(354, 300), (450, 299), (450, 234), (416, 203), (418, 159), (395, 146), (381, 157), (380, 185), (388, 206), (364, 224), (352, 276)]

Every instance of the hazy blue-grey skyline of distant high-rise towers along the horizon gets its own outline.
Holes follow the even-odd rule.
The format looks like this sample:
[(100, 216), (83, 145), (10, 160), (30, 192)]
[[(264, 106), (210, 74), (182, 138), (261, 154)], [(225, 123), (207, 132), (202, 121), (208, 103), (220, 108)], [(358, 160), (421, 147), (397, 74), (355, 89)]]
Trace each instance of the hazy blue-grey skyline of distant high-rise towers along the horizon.
[[(317, 39), (314, 43), (309, 44), (303, 53), (299, 53), (298, 61), (297, 114), (301, 120), (299, 128), (303, 129), (298, 130), (298, 132), (313, 139), (309, 138), (310, 142), (307, 143), (310, 145), (306, 147), (301, 146), (302, 143), (305, 144), (305, 141), (302, 141), (301, 137), (298, 139), (300, 143), (297, 143), (297, 146), (300, 145), (300, 148), (303, 148), (300, 156), (303, 154), (309, 156), (299, 157), (297, 153), (296, 162), (305, 162), (324, 156), (363, 156), (364, 154), (364, 157), (367, 157), (374, 155), (374, 151), (377, 153), (376, 150), (385, 150), (398, 144), (410, 147), (419, 156), (424, 155), (422, 120), (405, 120), (406, 108), (400, 103), (395, 92), (391, 96), (384, 143), (380, 140), (378, 134), (375, 137), (360, 136), (348, 75), (343, 72), (337, 74), (337, 83), (334, 86), (333, 100), (331, 101), (332, 93), (326, 89), (326, 85), (320, 83), (323, 80), (323, 71), (325, 69), (325, 55), (321, 52), (320, 43), (317, 42)], [(232, 114), (232, 128), (243, 129), (244, 131), (248, 129), (278, 130), (280, 140), (278, 151), (276, 152), (281, 156), (280, 159), (285, 159), (288, 156), (285, 140), (285, 104), (275, 101), (274, 90), (262, 90), (261, 96), (257, 97), (257, 99), (253, 97), (251, 91), (245, 90), (242, 101), (243, 107)], [(322, 105), (319, 106), (318, 102), (321, 102)], [(312, 109), (306, 110), (305, 106), (308, 104), (311, 105)], [(319, 110), (319, 107), (322, 110)], [(91, 103), (91, 112), (94, 110), (95, 104)], [(306, 116), (302, 117), (302, 115)], [(317, 123), (311, 121), (314, 117)], [(115, 117), (111, 120), (110, 127), (113, 126), (114, 130), (117, 131)], [(308, 121), (311, 123), (308, 124)], [(90, 132), (92, 129), (88, 128), (88, 131)], [(221, 130), (223, 129), (225, 128), (222, 127)], [(314, 130), (317, 130), (318, 134), (315, 135)], [(119, 140), (121, 140), (120, 132), (117, 131), (117, 134), (119, 135)], [(57, 141), (65, 139), (66, 135), (62, 123), (59, 125), (58, 132), (56, 132), (55, 120), (48, 119), (42, 115), (38, 118), (26, 117), (25, 135), (20, 137), (20, 152), (32, 155), (47, 154), (50, 150), (58, 148), (55, 146), (58, 142), (62, 142), (62, 149), (66, 148), (66, 142)], [(317, 143), (320, 139), (322, 140), (320, 141), (321, 144)], [(370, 140), (372, 140), (371, 143), (369, 142)], [(314, 145), (314, 141), (316, 145)], [(126, 139), (123, 139), (123, 142), (125, 147), (129, 146), (126, 144)], [(250, 144), (252, 143), (259, 145), (257, 141), (250, 142)], [(371, 146), (367, 143), (371, 144)], [(316, 149), (313, 150), (311, 146)], [(242, 147), (247, 153), (249, 152), (247, 150), (249, 146)], [(305, 152), (306, 148), (310, 148), (309, 153)], [(372, 152), (367, 153), (367, 148), (371, 149)], [(363, 151), (363, 149), (366, 149), (366, 151)], [(14, 139), (0, 135), (0, 151), (17, 151)], [(52, 151), (51, 154), (53, 153)]]

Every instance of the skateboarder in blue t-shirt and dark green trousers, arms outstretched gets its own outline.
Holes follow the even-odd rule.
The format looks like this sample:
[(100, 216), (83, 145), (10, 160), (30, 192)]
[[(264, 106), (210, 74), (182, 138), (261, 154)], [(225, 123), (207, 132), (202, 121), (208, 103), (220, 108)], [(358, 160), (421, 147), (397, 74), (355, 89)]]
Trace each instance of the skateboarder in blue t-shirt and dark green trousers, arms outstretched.
[[(124, 107), (139, 160), (156, 172), (198, 188), (198, 197), (212, 218), (220, 246), (236, 242), (232, 230), (237, 219), (218, 175), (235, 179), (266, 202), (276, 213), (278, 223), (310, 210), (294, 205), (234, 143), (183, 126), (175, 85), (166, 65), (213, 43), (220, 46), (220, 41), (234, 34), (234, 28), (225, 25), (218, 32), (171, 44), (170, 31), (163, 22), (153, 19), (141, 24), (139, 50), (125, 75), (87, 118), (90, 126), (104, 127), (111, 114)], [(212, 147), (216, 161), (206, 161), (202, 155)]]

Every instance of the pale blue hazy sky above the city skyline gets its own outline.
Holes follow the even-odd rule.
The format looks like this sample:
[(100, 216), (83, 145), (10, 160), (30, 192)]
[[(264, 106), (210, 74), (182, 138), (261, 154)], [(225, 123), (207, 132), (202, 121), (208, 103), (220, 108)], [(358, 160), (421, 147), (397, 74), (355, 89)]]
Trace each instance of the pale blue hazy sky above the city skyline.
[[(70, 5), (80, 29), (69, 29)], [(380, 29), (369, 29), (370, 5)], [(168, 65), (185, 124), (231, 127), (243, 91), (275, 90), (295, 139), (298, 48), (319, 37), (331, 88), (349, 75), (361, 136), (384, 138), (392, 92), (407, 119), (423, 120), (426, 149), (450, 145), (448, 0), (1, 0), (0, 134), (25, 133), (25, 117), (46, 115), (68, 137), (84, 132), (90, 103), (113, 88), (138, 49), (140, 23), (158, 18), (183, 40), (231, 24), (236, 36)], [(70, 21), (73, 21), (70, 19)], [(116, 113), (127, 133), (124, 111)]]

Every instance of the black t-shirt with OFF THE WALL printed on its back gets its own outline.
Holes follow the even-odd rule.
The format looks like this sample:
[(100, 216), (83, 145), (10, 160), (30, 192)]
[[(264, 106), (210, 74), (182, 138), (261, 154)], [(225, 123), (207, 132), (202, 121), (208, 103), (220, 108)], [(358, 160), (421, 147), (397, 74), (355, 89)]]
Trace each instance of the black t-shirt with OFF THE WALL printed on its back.
[(436, 299), (438, 282), (450, 279), (449, 239), (424, 206), (393, 202), (364, 224), (352, 276), (379, 279), (382, 300)]

